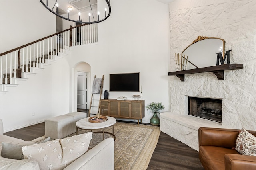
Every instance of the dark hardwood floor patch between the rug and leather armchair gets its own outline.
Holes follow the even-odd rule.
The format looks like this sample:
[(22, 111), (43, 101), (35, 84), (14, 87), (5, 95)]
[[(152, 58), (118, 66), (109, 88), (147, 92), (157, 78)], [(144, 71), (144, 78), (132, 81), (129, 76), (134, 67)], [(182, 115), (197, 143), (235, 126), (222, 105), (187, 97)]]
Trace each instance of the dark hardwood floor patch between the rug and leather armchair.
[(147, 170), (204, 170), (198, 152), (161, 132)]

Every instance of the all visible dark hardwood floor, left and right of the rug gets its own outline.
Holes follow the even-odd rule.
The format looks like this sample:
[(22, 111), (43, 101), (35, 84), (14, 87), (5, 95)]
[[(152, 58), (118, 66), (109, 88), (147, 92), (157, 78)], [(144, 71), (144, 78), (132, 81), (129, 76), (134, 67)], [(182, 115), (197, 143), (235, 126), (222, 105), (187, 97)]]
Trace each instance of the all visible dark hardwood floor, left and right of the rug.
[[(44, 135), (44, 123), (6, 132), (4, 135), (31, 141)], [(196, 150), (161, 132), (147, 170), (204, 170), (204, 168)]]

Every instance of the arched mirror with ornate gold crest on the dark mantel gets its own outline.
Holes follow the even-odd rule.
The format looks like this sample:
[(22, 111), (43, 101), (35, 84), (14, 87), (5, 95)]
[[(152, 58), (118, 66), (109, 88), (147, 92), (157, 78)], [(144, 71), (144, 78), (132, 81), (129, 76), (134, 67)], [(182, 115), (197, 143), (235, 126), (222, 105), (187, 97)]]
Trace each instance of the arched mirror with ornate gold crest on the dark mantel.
[(181, 70), (216, 66), (217, 53), (222, 52), (224, 57), (225, 41), (215, 37), (199, 36), (182, 51), (182, 61), (185, 58), (186, 65)]

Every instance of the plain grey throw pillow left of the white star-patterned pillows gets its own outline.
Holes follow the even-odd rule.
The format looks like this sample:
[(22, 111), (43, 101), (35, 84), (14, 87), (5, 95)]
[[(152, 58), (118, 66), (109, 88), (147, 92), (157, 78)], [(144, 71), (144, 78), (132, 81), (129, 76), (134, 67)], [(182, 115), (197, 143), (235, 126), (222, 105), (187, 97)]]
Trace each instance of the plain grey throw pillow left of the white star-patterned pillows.
[(2, 142), (1, 156), (9, 159), (18, 159), (18, 160), (24, 159), (24, 156), (22, 153), (22, 146), (15, 145), (12, 143)]

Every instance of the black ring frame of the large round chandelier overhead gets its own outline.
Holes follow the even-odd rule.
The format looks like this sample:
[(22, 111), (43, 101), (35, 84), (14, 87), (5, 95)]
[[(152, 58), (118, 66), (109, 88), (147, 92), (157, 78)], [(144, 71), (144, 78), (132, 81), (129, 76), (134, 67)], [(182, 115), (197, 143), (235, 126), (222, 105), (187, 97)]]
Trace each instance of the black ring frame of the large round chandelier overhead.
[[(109, 9), (109, 12), (108, 12), (108, 15), (103, 18), (102, 20), (98, 20), (98, 21), (93, 21), (93, 22), (82, 22), (82, 21), (76, 21), (76, 20), (71, 20), (69, 18), (66, 18), (60, 14), (58, 14), (57, 12), (54, 12), (53, 8), (50, 9), (46, 4), (44, 4), (44, 2), (42, 0), (40, 0), (40, 2), (43, 4), (43, 6), (48, 9), (50, 12), (52, 12), (53, 14), (55, 14), (56, 16), (59, 16), (60, 18), (63, 18), (64, 20), (68, 20), (68, 21), (72, 21), (72, 22), (76, 22), (76, 23), (82, 23), (82, 24), (92, 24), (92, 23), (100, 23), (102, 21), (105, 21), (109, 16), (110, 16), (110, 13), (111, 13), (111, 6), (110, 6), (110, 0), (105, 0), (106, 3), (108, 4), (108, 9)], [(57, 1), (56, 1), (57, 2)]]

